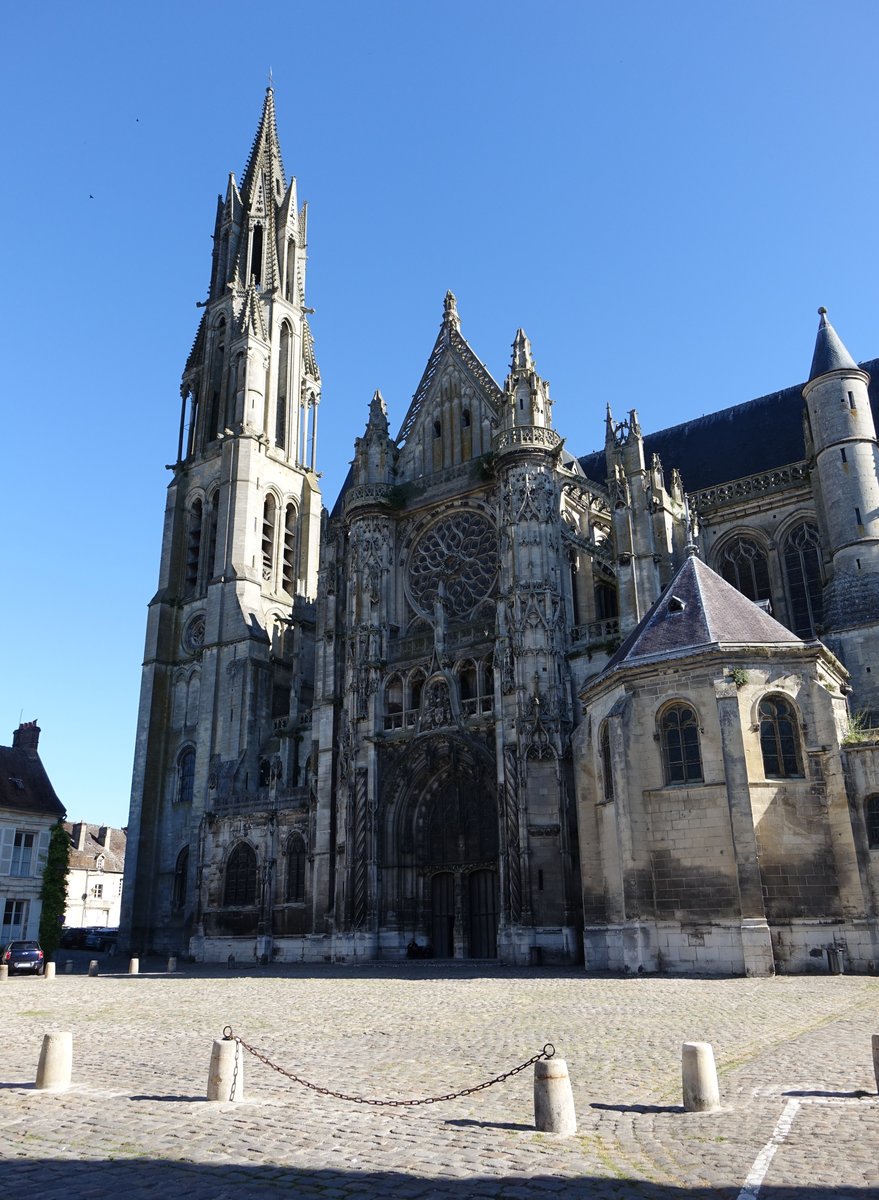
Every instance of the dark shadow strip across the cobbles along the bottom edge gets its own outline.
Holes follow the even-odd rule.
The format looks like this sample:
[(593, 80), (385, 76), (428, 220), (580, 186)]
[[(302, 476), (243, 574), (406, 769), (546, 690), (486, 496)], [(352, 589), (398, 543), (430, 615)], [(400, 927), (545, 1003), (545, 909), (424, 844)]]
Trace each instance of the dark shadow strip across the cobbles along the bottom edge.
[[(293, 1134), (294, 1136), (294, 1134)], [(516, 1200), (735, 1200), (741, 1184), (723, 1187), (665, 1187), (626, 1177), (580, 1176), (564, 1178), (550, 1172), (533, 1175), (485, 1176), (462, 1178), (440, 1176), (425, 1178), (405, 1171), (358, 1171), (340, 1157), (339, 1166), (301, 1170), (265, 1164), (216, 1164), (168, 1162), (167, 1159), (125, 1158), (77, 1162), (59, 1158), (7, 1159), (4, 1163), (4, 1190), (7, 1195), (36, 1192), (41, 1198), (89, 1200), (115, 1198), (126, 1200), (186, 1196), (187, 1200), (354, 1200), (354, 1198), (400, 1196), (406, 1200), (477, 1200), (477, 1198), (515, 1196)], [(763, 1187), (760, 1200), (875, 1200), (868, 1188), (773, 1188)]]

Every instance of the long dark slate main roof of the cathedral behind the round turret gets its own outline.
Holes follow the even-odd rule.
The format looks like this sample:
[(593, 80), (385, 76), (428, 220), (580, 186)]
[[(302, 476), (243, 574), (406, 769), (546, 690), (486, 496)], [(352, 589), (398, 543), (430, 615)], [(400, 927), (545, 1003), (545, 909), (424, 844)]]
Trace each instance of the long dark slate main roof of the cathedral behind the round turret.
[[(861, 370), (871, 376), (869, 402), (873, 419), (879, 425), (879, 359), (862, 362)], [(644, 439), (645, 461), (650, 466), (651, 457), (658, 454), (666, 473), (677, 467), (689, 492), (801, 462), (806, 457), (802, 389), (800, 383), (745, 404), (648, 433)], [(608, 478), (604, 450), (585, 455), (580, 466), (588, 479), (604, 486)]]

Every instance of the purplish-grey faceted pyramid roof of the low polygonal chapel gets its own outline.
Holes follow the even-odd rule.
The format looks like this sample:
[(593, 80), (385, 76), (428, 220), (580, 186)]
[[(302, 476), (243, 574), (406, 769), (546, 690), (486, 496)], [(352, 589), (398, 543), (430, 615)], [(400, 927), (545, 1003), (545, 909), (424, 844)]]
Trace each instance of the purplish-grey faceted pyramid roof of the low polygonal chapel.
[(690, 554), (603, 673), (708, 647), (779, 644), (803, 642)]

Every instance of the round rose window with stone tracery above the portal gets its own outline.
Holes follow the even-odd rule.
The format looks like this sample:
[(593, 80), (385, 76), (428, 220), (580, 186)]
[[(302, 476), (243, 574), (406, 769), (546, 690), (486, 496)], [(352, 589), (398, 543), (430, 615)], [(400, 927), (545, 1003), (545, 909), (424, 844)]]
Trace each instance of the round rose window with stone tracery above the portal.
[(465, 509), (432, 524), (409, 557), (409, 598), (425, 616), (444, 584), (444, 607), (453, 620), (465, 619), (491, 595), (497, 575), (497, 535), (480, 512)]

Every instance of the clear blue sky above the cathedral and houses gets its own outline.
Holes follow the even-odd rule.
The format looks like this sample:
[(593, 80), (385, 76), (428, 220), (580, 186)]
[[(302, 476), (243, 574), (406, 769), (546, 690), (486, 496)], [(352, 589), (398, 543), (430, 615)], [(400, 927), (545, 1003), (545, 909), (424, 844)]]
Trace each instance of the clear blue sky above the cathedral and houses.
[(126, 823), (180, 372), (269, 67), (331, 505), (447, 288), (495, 378), (526, 330), (579, 454), (608, 401), (660, 428), (803, 379), (819, 304), (879, 355), (878, 34), (826, 0), (7, 5), (0, 742), (38, 718), (70, 817)]

